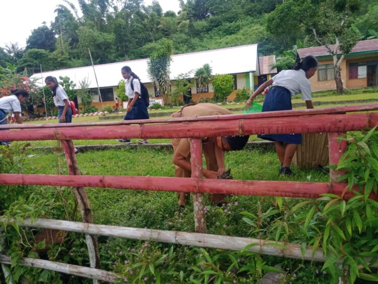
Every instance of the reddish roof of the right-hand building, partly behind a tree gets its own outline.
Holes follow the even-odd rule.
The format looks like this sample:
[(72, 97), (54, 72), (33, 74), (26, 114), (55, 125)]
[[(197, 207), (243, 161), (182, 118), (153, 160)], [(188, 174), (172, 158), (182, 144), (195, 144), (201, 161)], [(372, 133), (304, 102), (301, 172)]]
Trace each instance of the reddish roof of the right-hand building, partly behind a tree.
[[(331, 49), (334, 48), (334, 44), (330, 45)], [(307, 55), (312, 56), (325, 56), (330, 55), (327, 48), (323, 46), (315, 46), (315, 47), (307, 47), (307, 48), (299, 48), (298, 54), (300, 58), (303, 58)], [(354, 52), (361, 52), (361, 51), (378, 51), (378, 39), (369, 39), (369, 40), (361, 40), (358, 41), (357, 44), (353, 47), (352, 51), (348, 54), (354, 53)], [(338, 53), (341, 53), (340, 50), (338, 50)]]

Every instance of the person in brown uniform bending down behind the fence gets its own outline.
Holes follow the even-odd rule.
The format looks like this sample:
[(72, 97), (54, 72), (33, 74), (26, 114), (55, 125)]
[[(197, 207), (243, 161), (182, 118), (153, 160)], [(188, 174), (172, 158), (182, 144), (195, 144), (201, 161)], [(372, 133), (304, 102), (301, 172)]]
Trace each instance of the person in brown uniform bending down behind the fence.
[[(179, 111), (173, 113), (172, 117), (194, 118), (215, 115), (232, 115), (232, 112), (219, 105), (212, 103), (188, 104)], [(247, 136), (225, 136), (202, 138), (202, 152), (205, 155), (206, 169), (203, 174), (207, 179), (217, 179), (224, 172), (224, 152), (241, 150), (247, 143)], [(191, 177), (191, 144), (189, 138), (172, 139), (173, 163), (175, 164), (176, 178)], [(185, 199), (189, 195), (184, 192), (177, 192), (178, 205), (184, 206)], [(213, 194), (211, 202), (213, 204), (224, 203), (223, 194)]]

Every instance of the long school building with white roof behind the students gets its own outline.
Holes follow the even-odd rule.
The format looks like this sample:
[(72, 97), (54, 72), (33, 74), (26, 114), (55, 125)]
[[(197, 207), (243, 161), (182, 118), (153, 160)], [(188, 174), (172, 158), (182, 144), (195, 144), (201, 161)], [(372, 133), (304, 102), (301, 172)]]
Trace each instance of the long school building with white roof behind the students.
[[(212, 98), (214, 95), (211, 83), (201, 89), (199, 86), (195, 85), (193, 79), (196, 69), (202, 67), (204, 64), (211, 66), (213, 75), (231, 74), (234, 77), (234, 91), (228, 96), (228, 100), (235, 98), (238, 89), (245, 88), (255, 90), (259, 85), (269, 80), (272, 75), (277, 73), (277, 69), (272, 69), (272, 66), (276, 63), (275, 55), (259, 57), (257, 44), (175, 54), (171, 56), (171, 59), (170, 80), (172, 81), (172, 90), (174, 90), (174, 80), (177, 76), (179, 74), (188, 74), (187, 80), (194, 85), (188, 92), (191, 94), (194, 101), (199, 99), (199, 93), (201, 93), (201, 98)], [(139, 59), (94, 66), (104, 106), (110, 105), (113, 107), (115, 105), (114, 99), (116, 97), (118, 83), (123, 79), (121, 76), (121, 68), (123, 66), (130, 66), (132, 71), (141, 78), (151, 98), (160, 98), (159, 92), (149, 79), (147, 62), (148, 59)], [(44, 72), (43, 77), (45, 78), (46, 76), (56, 78), (59, 78), (59, 76), (68, 76), (74, 81), (77, 89), (80, 88), (79, 82), (87, 78), (89, 88), (93, 90), (92, 105), (99, 109), (101, 108), (92, 66)], [(31, 77), (36, 79), (38, 84), (41, 84), (40, 73), (36, 73)], [(186, 96), (181, 99), (185, 102), (190, 101), (190, 97)], [(76, 103), (81, 103), (80, 98), (77, 99)], [(119, 102), (119, 106), (122, 107), (121, 102)], [(79, 105), (79, 107), (81, 107), (81, 105)], [(43, 109), (38, 108), (36, 111), (43, 112)]]

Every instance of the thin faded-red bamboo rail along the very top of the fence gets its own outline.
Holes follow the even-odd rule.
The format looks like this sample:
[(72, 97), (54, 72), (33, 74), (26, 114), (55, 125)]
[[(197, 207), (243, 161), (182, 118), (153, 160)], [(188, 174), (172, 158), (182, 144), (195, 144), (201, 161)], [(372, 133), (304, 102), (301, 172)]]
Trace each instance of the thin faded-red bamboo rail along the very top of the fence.
[[(130, 121), (115, 121), (115, 122), (91, 122), (91, 123), (71, 123), (70, 127), (83, 126), (119, 126), (131, 124), (160, 124), (160, 123), (180, 123), (180, 122), (198, 122), (198, 121), (227, 121), (233, 119), (258, 119), (258, 118), (279, 118), (279, 117), (301, 117), (301, 116), (315, 116), (337, 114), (345, 112), (369, 111), (378, 109), (378, 103), (351, 105), (351, 106), (335, 106), (326, 108), (310, 108), (298, 110), (280, 110), (280, 111), (266, 111), (258, 113), (239, 113), (235, 115), (226, 116), (206, 116), (197, 118), (169, 118), (169, 119), (153, 119), (153, 120), (130, 120)], [(0, 125), (0, 129), (34, 129), (34, 128), (62, 128), (67, 127), (63, 124), (8, 124)]]

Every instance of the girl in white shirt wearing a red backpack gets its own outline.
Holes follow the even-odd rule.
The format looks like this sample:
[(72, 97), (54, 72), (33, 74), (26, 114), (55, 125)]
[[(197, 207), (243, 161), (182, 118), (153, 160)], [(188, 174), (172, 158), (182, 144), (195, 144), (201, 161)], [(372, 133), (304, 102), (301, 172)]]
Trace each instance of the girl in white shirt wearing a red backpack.
[(58, 108), (58, 123), (71, 123), (72, 110), (66, 91), (59, 86), (58, 80), (55, 77), (47, 76), (45, 83), (51, 90), (52, 99), (54, 100), (55, 106)]

